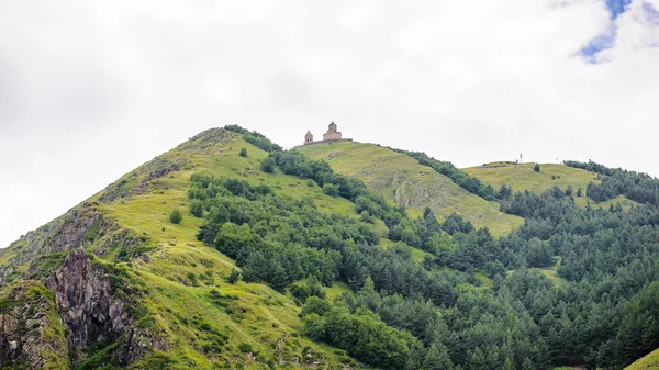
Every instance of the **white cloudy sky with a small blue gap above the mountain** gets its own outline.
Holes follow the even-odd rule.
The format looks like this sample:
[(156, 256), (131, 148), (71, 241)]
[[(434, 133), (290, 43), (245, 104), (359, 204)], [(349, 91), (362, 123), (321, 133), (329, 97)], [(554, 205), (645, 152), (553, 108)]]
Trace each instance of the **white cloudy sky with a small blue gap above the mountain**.
[(200, 131), (659, 176), (659, 0), (0, 1), (0, 246)]

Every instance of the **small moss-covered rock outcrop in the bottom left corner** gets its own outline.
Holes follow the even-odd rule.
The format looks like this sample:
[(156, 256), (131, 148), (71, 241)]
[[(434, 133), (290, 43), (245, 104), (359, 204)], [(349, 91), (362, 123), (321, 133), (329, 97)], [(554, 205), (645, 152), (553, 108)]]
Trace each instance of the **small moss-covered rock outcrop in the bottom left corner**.
[(68, 349), (52, 292), (36, 281), (0, 298), (0, 367), (67, 369)]

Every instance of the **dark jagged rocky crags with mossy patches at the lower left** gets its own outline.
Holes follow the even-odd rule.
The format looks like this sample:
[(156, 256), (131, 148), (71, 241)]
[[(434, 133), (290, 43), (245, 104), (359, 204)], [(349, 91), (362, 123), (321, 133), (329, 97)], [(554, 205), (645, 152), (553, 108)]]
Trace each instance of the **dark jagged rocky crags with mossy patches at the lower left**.
[(76, 249), (43, 282), (21, 281), (0, 296), (0, 367), (67, 369), (100, 343), (112, 345), (109, 355), (123, 366), (169, 349), (138, 325), (148, 313), (136, 310), (139, 296), (125, 272), (92, 258)]

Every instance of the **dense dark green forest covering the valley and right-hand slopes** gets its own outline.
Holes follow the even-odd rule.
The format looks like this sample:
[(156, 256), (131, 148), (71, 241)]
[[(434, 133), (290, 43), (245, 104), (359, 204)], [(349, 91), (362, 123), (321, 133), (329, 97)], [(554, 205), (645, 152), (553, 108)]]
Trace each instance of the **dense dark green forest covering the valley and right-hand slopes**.
[[(263, 170), (308, 179), (353, 201), (359, 216), (203, 175), (191, 179), (191, 211), (208, 220), (198, 237), (235, 258), (244, 279), (303, 304), (310, 338), (386, 369), (619, 369), (659, 347), (656, 179), (592, 166), (602, 182), (589, 197), (614, 189), (643, 203), (629, 211), (580, 209), (556, 187), (499, 198), (525, 224), (496, 239), (458, 215), (440, 224), (428, 209), (411, 218), (324, 161), (270, 152)], [(395, 244), (379, 247), (382, 238)], [(541, 273), (549, 267), (555, 279)], [(322, 285), (334, 281), (353, 292), (328, 301)]]

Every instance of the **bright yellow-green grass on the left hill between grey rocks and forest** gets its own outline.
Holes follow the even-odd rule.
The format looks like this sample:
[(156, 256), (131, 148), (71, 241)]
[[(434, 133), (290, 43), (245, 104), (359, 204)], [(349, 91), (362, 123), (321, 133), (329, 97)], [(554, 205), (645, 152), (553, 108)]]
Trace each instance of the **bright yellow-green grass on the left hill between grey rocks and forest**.
[[(238, 156), (241, 148), (247, 148), (247, 158)], [(259, 160), (267, 157), (267, 153), (237, 137), (228, 146), (217, 148), (214, 153), (190, 154), (174, 149), (163, 157), (172, 161), (188, 158), (192, 165), (188, 170), (172, 172), (163, 179), (148, 194), (105, 204), (101, 210), (122, 226), (143, 235), (156, 247), (150, 253), (148, 264), (136, 262), (133, 266), (142, 272), (147, 285), (152, 287), (149, 309), (158, 312), (159, 324), (176, 344), (178, 356), (187, 358), (188, 365), (193, 363), (196, 368), (212, 366), (209, 356), (197, 350), (206, 344), (203, 339), (204, 332), (190, 324), (197, 317), (228, 336), (225, 345), (228, 355), (219, 355), (224, 360), (244, 358), (238, 350), (243, 343), (252, 345), (260, 354), (258, 358), (261, 360), (276, 359), (277, 340), (293, 336), (284, 346), (283, 357), (287, 362), (293, 356), (303, 358), (303, 349), (309, 347), (314, 357), (325, 358), (323, 362), (337, 366), (339, 357), (344, 357), (340, 351), (335, 355), (327, 346), (297, 337), (302, 328), (298, 317), (300, 309), (290, 299), (263, 284), (224, 283), (224, 278), (234, 264), (214, 248), (197, 242), (194, 236), (203, 221), (188, 214), (189, 200), (186, 192), (193, 172), (208, 171), (219, 177), (236, 177), (252, 183), (265, 183), (278, 194), (298, 199), (311, 197), (319, 209), (325, 212), (354, 214), (353, 203), (326, 197), (320, 188), (309, 187), (306, 181), (282, 173), (268, 175), (260, 171)], [(179, 225), (167, 220), (175, 208), (181, 209), (183, 213)], [(137, 214), (139, 217), (135, 217)], [(197, 277), (196, 283), (191, 281), (190, 274)], [(232, 298), (228, 309), (212, 303), (210, 290), (213, 288)], [(246, 368), (263, 368), (263, 363), (247, 361)]]

